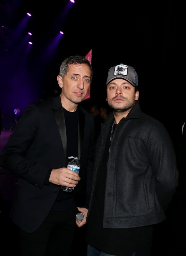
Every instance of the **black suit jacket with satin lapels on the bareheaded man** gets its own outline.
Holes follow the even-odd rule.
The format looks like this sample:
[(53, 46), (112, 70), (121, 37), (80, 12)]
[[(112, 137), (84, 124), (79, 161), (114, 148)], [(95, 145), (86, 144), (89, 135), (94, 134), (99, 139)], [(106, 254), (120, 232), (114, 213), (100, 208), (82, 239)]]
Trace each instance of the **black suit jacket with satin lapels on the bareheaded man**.
[[(93, 116), (80, 106), (78, 126), (81, 180), (76, 198), (77, 206), (88, 207), (95, 130)], [(22, 230), (35, 231), (50, 212), (61, 187), (53, 183), (46, 185), (45, 180), (52, 169), (66, 167), (66, 149), (60, 96), (27, 106), (0, 156), (0, 166), (19, 177), (10, 216)]]

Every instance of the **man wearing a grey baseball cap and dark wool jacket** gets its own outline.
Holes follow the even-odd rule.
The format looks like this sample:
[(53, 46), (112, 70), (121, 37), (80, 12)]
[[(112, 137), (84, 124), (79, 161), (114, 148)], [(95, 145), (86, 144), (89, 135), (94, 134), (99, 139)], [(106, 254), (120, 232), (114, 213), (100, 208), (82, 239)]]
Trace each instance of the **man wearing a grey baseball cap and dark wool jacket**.
[(141, 111), (133, 67), (111, 67), (106, 85), (112, 112), (97, 140), (87, 255), (150, 256), (154, 225), (178, 186), (173, 144), (164, 125)]

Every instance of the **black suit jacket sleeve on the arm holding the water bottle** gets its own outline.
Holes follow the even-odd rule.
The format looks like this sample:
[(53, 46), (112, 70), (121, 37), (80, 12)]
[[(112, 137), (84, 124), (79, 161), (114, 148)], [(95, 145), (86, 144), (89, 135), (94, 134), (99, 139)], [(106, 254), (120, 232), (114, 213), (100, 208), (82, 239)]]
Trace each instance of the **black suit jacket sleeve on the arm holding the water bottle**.
[[(45, 174), (50, 169), (25, 157), (36, 136), (38, 122), (38, 107), (36, 104), (30, 104), (26, 107), (25, 112), (17, 122), (13, 133), (2, 150), (0, 166), (13, 171), (19, 177), (42, 188), (46, 178)], [(43, 172), (41, 171), (42, 169)]]

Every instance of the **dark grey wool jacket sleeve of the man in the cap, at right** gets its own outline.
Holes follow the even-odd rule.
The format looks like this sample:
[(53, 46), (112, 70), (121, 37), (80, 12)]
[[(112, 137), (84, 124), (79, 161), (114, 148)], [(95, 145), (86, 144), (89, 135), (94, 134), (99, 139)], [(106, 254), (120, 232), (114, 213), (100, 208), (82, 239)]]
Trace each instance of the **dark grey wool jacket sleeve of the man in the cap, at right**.
[(155, 178), (156, 195), (164, 210), (178, 186), (178, 170), (172, 140), (161, 123), (156, 123), (148, 139), (148, 159)]

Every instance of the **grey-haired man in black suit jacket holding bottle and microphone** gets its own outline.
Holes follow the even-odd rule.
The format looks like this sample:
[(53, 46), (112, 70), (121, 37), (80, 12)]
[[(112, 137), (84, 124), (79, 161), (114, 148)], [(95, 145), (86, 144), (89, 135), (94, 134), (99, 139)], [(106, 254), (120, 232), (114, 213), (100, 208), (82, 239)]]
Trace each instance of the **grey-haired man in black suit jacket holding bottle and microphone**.
[[(93, 116), (78, 104), (91, 80), (84, 56), (66, 58), (57, 76), (61, 94), (28, 105), (2, 150), (0, 166), (18, 175), (10, 216), (20, 230), (20, 256), (67, 256), (76, 225), (85, 224), (95, 130)], [(79, 157), (79, 174), (66, 168), (69, 156)], [(80, 223), (78, 211), (85, 216)]]

